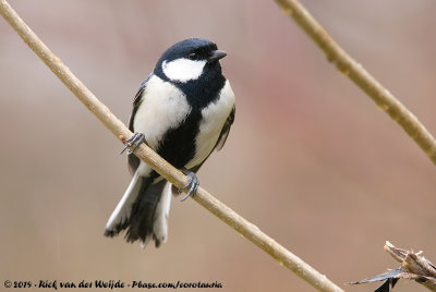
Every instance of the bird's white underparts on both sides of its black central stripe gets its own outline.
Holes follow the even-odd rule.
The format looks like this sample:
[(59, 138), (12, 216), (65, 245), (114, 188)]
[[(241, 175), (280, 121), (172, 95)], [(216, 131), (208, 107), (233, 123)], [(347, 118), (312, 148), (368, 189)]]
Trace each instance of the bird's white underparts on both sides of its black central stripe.
[[(135, 132), (143, 133), (147, 145), (156, 150), (165, 132), (179, 126), (191, 112), (191, 106), (179, 88), (157, 76), (152, 76), (148, 81), (144, 97), (136, 111), (133, 127)], [(218, 100), (202, 110), (199, 132), (195, 139), (195, 156), (186, 163), (186, 169), (202, 163), (214, 149), (234, 101), (233, 90), (229, 81), (226, 81)], [(146, 175), (152, 169), (141, 162), (138, 171)]]

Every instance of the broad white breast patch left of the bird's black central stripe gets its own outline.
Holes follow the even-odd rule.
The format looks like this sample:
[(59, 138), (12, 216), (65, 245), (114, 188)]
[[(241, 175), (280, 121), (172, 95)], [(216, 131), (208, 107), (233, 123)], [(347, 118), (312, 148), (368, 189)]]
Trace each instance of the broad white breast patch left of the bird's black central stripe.
[(190, 111), (183, 93), (154, 75), (145, 87), (133, 127), (135, 132), (144, 133), (148, 146), (156, 150), (165, 132), (177, 127)]

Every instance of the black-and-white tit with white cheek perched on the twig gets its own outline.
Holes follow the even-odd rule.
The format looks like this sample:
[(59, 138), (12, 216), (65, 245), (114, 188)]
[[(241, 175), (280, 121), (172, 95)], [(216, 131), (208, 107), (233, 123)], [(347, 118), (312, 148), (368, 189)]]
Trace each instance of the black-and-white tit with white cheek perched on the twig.
[[(225, 145), (235, 115), (235, 97), (222, 75), (227, 56), (215, 42), (189, 38), (168, 48), (154, 71), (141, 84), (133, 100), (125, 139), (132, 180), (111, 214), (105, 235), (125, 232), (125, 241), (150, 241), (159, 247), (168, 239), (172, 195), (198, 187), (196, 172), (216, 149)], [(180, 169), (189, 183), (178, 190), (133, 153), (142, 143)]]

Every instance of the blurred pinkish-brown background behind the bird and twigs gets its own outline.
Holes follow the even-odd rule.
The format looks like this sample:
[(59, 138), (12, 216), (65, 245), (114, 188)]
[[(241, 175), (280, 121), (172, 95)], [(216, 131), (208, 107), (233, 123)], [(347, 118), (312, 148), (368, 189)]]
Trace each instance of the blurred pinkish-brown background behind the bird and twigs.
[[(274, 1), (10, 3), (124, 122), (165, 49), (216, 41), (238, 110), (202, 186), (347, 291), (373, 291), (344, 283), (398, 267), (386, 240), (436, 261), (435, 166)], [(302, 3), (436, 134), (434, 1)], [(104, 238), (130, 182), (122, 145), (3, 20), (0, 76), (1, 287), (113, 279), (314, 291), (191, 199), (172, 202), (158, 250)], [(411, 290), (425, 291), (407, 281), (395, 291)]]

